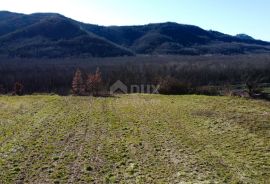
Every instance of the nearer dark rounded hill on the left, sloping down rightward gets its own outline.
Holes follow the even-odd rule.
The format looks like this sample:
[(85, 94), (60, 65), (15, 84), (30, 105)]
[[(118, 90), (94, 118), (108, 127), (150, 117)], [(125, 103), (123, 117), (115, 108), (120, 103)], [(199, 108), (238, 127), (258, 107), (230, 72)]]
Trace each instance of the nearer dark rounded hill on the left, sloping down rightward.
[(58, 14), (22, 15), (0, 24), (0, 28), (5, 30), (0, 37), (2, 55), (49, 58), (133, 55)]

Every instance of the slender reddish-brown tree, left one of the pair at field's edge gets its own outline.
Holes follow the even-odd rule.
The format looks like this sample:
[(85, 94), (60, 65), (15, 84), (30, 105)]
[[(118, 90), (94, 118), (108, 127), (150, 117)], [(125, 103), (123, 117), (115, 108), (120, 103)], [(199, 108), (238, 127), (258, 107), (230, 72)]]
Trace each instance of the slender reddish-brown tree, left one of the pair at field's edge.
[(72, 93), (73, 95), (84, 95), (85, 85), (82, 78), (82, 72), (77, 69), (73, 81), (72, 81)]

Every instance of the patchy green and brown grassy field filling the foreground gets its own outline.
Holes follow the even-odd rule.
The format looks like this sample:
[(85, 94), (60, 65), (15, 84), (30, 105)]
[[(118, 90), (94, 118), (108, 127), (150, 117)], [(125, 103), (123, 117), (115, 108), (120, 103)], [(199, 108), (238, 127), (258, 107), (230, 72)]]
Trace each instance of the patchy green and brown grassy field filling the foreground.
[(269, 183), (270, 103), (0, 97), (0, 183)]

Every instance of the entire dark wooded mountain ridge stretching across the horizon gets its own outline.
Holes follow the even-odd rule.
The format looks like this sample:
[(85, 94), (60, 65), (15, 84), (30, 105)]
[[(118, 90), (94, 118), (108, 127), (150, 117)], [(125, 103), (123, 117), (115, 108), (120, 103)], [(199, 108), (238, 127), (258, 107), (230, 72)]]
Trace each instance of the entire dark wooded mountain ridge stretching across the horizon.
[(0, 12), (0, 55), (10, 57), (113, 57), (270, 53), (270, 43), (173, 22), (98, 26), (57, 13)]

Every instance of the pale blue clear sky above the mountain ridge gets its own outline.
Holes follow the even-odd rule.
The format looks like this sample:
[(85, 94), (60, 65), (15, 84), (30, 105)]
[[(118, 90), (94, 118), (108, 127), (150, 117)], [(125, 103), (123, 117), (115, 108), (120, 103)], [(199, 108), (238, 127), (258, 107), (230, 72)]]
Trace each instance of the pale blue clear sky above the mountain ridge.
[(169, 21), (270, 41), (270, 0), (0, 0), (0, 10), (55, 12), (99, 25)]

